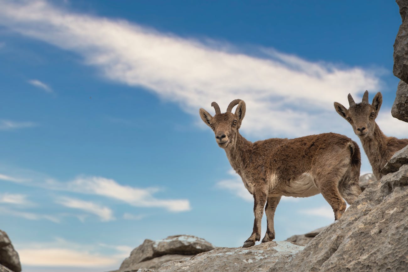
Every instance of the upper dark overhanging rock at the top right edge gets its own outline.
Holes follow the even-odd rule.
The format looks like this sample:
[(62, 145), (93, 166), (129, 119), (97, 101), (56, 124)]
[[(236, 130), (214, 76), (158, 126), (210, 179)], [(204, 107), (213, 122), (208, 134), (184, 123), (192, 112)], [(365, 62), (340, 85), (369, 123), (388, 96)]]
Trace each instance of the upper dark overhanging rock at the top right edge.
[(401, 14), (402, 24), (399, 27), (394, 43), (394, 75), (408, 83), (408, 0), (396, 0)]

